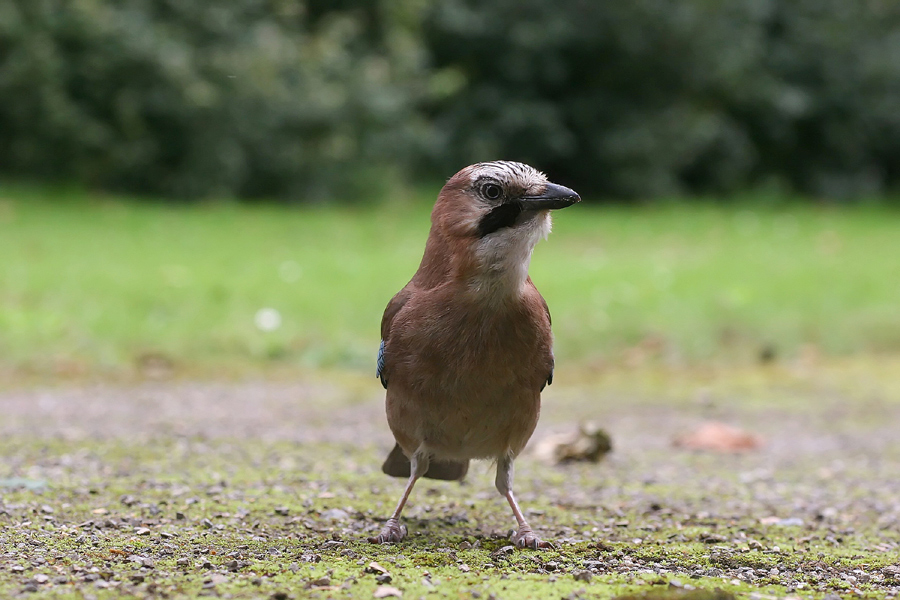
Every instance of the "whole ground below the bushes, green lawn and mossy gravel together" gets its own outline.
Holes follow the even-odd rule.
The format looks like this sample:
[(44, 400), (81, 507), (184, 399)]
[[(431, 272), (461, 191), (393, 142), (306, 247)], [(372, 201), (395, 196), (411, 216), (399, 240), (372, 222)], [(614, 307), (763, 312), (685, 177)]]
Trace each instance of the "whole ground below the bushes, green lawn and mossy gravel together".
[[(0, 598), (747, 600), (900, 589), (896, 203), (561, 211), (530, 273), (558, 370), (516, 463), (556, 548), (509, 547), (490, 465), (403, 483), (374, 377), (437, 188), (366, 206), (0, 190)], [(706, 421), (752, 451), (673, 441)], [(376, 563), (376, 564), (372, 564)], [(712, 600), (681, 597), (682, 600)]]

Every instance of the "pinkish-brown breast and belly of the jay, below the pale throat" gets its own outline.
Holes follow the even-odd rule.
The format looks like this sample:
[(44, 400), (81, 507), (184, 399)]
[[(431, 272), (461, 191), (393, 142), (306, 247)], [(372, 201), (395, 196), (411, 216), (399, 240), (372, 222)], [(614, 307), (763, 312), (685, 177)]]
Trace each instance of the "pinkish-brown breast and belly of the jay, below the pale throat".
[[(415, 280), (414, 280), (415, 281)], [(439, 458), (515, 456), (540, 414), (553, 367), (550, 319), (537, 289), (499, 304), (457, 281), (414, 282), (392, 318), (388, 423), (407, 453), (424, 444)]]

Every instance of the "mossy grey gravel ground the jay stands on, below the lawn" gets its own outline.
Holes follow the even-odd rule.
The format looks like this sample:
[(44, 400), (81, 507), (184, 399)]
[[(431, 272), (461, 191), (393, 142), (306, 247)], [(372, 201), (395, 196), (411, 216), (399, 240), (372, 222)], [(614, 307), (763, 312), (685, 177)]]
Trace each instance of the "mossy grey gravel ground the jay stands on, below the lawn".
[[(897, 373), (871, 357), (562, 368), (535, 440), (592, 420), (614, 450), (598, 464), (517, 462), (526, 514), (556, 545), (546, 551), (509, 546), (488, 464), (462, 485), (422, 481), (404, 542), (365, 541), (403, 485), (379, 469), (392, 440), (374, 377), (8, 389), (0, 596), (892, 598)], [(673, 446), (707, 420), (764, 444)]]

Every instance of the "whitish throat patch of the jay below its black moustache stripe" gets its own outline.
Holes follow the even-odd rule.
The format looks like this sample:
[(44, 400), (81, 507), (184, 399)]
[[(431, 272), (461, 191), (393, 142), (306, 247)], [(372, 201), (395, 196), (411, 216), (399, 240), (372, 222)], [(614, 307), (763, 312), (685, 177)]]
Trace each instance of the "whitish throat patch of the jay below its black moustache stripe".
[(534, 247), (550, 234), (550, 213), (481, 238), (475, 246), (478, 274), (471, 289), (489, 302), (519, 296), (528, 279)]

